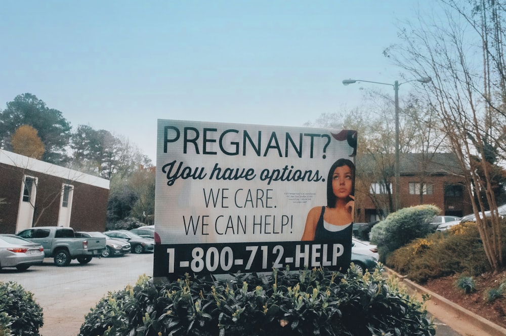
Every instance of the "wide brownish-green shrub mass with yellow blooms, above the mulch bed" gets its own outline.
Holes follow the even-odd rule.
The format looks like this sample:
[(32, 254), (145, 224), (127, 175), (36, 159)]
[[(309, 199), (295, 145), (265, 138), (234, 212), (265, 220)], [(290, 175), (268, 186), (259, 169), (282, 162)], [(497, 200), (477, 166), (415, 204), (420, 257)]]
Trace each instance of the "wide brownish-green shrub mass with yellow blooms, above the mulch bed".
[(415, 239), (390, 254), (386, 265), (418, 283), (456, 273), (477, 276), (490, 271), (476, 223)]

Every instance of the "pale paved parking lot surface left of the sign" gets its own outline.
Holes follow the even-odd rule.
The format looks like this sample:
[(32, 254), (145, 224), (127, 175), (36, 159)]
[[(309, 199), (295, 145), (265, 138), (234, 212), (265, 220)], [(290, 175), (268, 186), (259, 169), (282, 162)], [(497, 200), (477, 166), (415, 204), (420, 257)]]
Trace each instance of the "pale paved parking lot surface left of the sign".
[(76, 336), (90, 308), (108, 291), (135, 284), (139, 276), (153, 275), (153, 254), (94, 258), (81, 265), (73, 260), (68, 267), (56, 267), (52, 258), (26, 271), (0, 270), (0, 281), (16, 281), (34, 294), (43, 308), (44, 336)]

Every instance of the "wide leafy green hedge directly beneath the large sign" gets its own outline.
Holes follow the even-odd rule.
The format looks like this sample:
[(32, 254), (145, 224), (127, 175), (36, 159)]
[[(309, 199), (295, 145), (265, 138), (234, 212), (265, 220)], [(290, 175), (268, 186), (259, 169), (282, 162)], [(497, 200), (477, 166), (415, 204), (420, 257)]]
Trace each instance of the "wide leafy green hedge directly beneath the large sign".
[(104, 297), (79, 335), (434, 335), (422, 305), (379, 266), (364, 276), (350, 268), (170, 283), (144, 277)]

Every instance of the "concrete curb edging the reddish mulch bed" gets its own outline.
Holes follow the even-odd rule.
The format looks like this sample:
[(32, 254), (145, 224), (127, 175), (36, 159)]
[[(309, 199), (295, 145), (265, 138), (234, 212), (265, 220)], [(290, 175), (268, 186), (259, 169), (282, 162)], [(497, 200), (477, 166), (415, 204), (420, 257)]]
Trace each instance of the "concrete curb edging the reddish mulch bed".
[[(479, 328), (484, 333), (486, 332), (489, 335), (494, 335), (494, 336), (495, 335), (498, 335), (498, 336), (499, 335), (506, 335), (505, 328), (503, 328), (495, 323), (490, 322), (489, 320), (473, 313), (472, 311), (469, 311), (465, 308), (462, 308), (459, 305), (456, 305), (455, 303), (449, 301), (448, 299), (445, 299), (442, 296), (438, 295), (437, 293), (430, 291), (427, 288), (414, 283), (413, 281), (407, 279), (405, 276), (396, 273), (395, 271), (389, 269), (388, 267), (385, 267), (385, 271), (388, 274), (393, 274), (394, 276), (396, 276), (399, 279), (399, 282), (403, 283), (408, 288), (408, 290), (410, 290), (412, 292), (419, 293), (420, 295), (429, 294), (431, 296), (430, 301), (432, 301), (435, 305), (440, 306), (445, 311), (445, 313), (453, 314), (454, 316), (459, 317), (463, 321), (467, 321), (467, 322), (471, 323), (473, 326)], [(433, 311), (431, 311), (430, 307), (427, 307), (427, 310), (431, 314), (436, 316), (436, 314), (433, 313)], [(443, 316), (436, 316), (436, 317), (439, 318), (440, 320), (444, 321)], [(453, 328), (454, 326), (450, 325), (450, 327)], [(465, 329), (465, 327), (462, 328), (462, 326), (455, 326), (454, 329), (458, 331), (458, 329)], [(466, 334), (468, 334), (468, 333), (466, 333)]]

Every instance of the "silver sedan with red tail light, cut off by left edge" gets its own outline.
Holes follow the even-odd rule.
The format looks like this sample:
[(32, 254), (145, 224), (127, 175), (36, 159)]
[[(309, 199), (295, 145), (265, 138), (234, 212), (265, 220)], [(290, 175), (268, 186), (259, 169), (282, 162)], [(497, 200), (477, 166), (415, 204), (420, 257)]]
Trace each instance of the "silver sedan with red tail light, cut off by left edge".
[(20, 271), (44, 261), (44, 247), (13, 234), (0, 234), (0, 269), (16, 267)]

